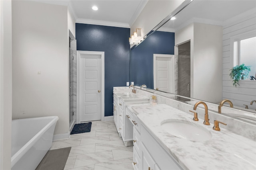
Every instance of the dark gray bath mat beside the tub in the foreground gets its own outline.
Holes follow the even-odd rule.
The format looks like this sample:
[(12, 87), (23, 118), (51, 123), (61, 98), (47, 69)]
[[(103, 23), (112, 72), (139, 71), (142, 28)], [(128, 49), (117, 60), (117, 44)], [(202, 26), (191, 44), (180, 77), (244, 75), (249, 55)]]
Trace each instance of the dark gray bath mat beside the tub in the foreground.
[(48, 150), (36, 170), (64, 170), (71, 147)]

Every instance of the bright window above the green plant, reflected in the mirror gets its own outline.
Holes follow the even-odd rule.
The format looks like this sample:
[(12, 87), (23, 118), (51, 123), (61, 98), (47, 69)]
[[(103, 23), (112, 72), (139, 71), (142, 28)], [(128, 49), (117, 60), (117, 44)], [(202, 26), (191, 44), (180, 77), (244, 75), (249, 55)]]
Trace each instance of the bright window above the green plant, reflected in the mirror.
[(250, 76), (256, 76), (256, 37), (240, 37), (234, 40), (234, 66), (251, 66)]

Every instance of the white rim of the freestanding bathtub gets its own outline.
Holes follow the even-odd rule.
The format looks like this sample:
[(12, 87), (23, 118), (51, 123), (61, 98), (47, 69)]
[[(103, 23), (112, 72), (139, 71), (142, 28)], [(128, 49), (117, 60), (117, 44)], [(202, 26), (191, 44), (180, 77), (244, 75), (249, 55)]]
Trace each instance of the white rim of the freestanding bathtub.
[[(38, 133), (36, 133), (36, 135), (34, 137), (32, 137), (20, 150), (18, 150), (12, 157), (11, 157), (11, 167), (13, 167), (22, 156), (24, 156), (24, 154), (26, 152), (28, 152), (28, 150), (31, 147), (28, 147), (29, 145), (33, 146), (38, 139), (50, 128), (50, 126), (52, 126), (54, 123), (57, 123), (59, 117), (58, 116), (44, 116), (44, 117), (32, 117), (32, 118), (25, 118), (25, 119), (40, 119), (40, 118), (52, 118), (52, 120), (47, 123), (46, 126), (44, 126)], [(14, 119), (12, 121), (16, 121), (16, 120), (22, 120), (22, 119)], [(56, 127), (56, 125), (55, 125)], [(53, 134), (52, 134), (53, 135)]]

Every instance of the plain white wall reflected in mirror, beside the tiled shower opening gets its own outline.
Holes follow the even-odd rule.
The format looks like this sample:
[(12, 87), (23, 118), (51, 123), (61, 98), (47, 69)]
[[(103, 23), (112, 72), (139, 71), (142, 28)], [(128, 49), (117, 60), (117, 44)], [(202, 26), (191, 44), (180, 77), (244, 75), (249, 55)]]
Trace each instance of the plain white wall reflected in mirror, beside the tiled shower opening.
[(222, 99), (222, 27), (191, 23), (176, 31), (175, 45), (190, 40), (191, 98)]

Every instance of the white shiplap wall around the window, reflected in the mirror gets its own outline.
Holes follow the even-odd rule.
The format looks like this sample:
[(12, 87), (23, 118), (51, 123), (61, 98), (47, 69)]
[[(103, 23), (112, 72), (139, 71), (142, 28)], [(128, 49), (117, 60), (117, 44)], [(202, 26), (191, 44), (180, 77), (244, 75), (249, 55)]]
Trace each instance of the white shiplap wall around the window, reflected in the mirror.
[(249, 108), (255, 109), (255, 103), (250, 106), (250, 102), (256, 99), (256, 80), (239, 80), (237, 87), (232, 85), (229, 76), (230, 69), (233, 67), (233, 59), (230, 52), (230, 37), (245, 33), (247, 31), (256, 31), (256, 14), (250, 14), (244, 17), (238, 17), (234, 22), (230, 22), (223, 27), (223, 99), (229, 99), (236, 106), (244, 107), (246, 104)]

